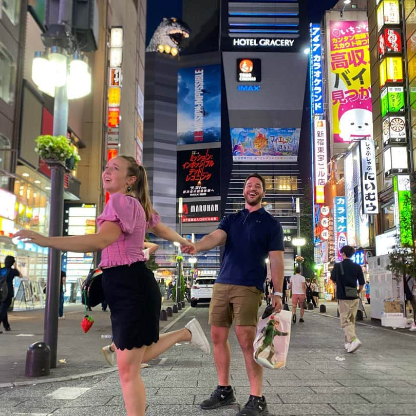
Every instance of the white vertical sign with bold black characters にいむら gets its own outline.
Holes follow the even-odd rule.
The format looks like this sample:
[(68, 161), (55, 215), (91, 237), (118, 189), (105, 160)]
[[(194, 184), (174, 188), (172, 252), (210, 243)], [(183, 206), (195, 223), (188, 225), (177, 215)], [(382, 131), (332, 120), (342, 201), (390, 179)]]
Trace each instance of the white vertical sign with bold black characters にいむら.
[(378, 214), (374, 140), (360, 141), (363, 214)]

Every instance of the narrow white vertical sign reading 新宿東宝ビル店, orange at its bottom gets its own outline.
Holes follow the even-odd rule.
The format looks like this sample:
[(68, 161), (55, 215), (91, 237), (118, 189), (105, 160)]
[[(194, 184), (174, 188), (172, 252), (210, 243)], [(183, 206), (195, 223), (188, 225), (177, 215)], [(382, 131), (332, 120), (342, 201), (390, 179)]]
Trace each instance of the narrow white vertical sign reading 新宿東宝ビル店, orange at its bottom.
[(313, 122), (314, 155), (315, 155), (315, 201), (324, 203), (324, 186), (327, 183), (327, 126), (325, 120)]

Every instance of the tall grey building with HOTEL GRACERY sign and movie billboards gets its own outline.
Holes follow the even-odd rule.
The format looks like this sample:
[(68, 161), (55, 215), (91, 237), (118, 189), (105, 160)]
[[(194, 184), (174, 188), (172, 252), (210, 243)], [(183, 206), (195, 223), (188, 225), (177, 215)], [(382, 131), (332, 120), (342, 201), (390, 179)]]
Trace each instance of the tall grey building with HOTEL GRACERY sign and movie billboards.
[[(177, 197), (182, 231), (206, 234), (244, 206), (244, 178), (266, 179), (264, 209), (285, 230), (293, 271), (294, 198), (308, 56), (305, 2), (183, 1), (194, 30), (178, 70)], [(207, 263), (207, 266), (209, 264)]]

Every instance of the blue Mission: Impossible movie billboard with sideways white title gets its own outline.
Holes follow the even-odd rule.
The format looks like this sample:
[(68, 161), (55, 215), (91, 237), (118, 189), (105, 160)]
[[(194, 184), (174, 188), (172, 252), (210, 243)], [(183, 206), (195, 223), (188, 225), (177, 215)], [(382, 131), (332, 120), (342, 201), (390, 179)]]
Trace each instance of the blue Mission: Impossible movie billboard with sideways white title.
[(221, 140), (221, 66), (178, 70), (178, 145)]

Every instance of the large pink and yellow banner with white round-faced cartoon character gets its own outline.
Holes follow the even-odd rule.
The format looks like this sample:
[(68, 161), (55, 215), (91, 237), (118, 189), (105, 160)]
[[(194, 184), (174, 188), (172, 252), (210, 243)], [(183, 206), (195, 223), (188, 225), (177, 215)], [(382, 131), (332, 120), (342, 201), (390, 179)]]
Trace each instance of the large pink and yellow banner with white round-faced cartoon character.
[(372, 138), (367, 21), (330, 21), (329, 90), (334, 142)]

